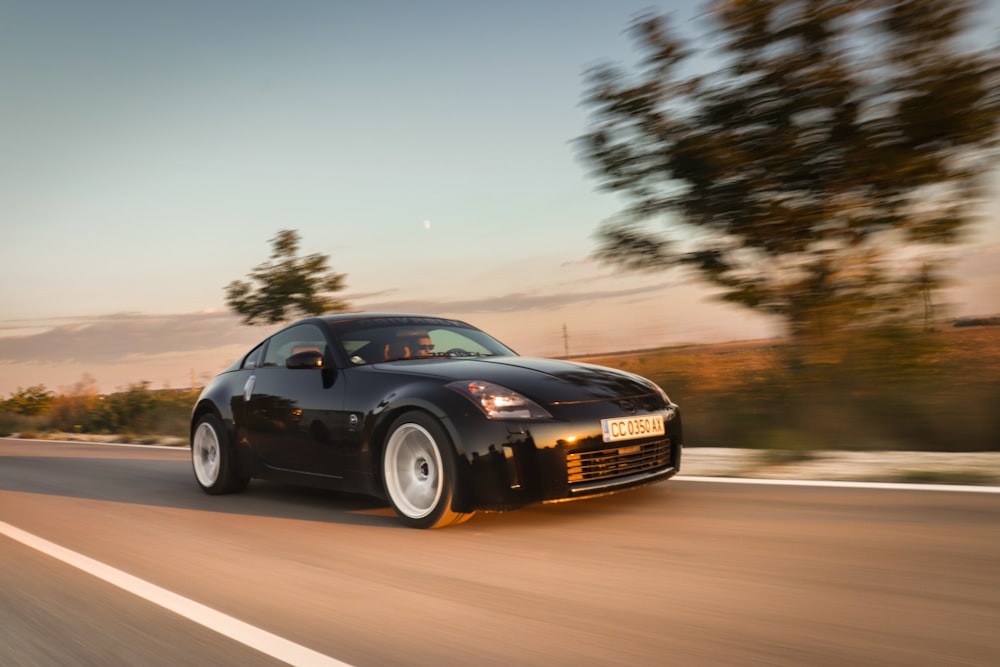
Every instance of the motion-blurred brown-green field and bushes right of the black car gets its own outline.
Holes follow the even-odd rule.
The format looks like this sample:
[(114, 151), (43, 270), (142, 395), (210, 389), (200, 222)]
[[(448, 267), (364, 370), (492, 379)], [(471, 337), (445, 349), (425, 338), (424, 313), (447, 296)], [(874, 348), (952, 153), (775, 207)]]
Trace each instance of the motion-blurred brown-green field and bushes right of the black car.
[(688, 446), (1000, 451), (1000, 326), (828, 342), (809, 356), (772, 340), (586, 361), (656, 381), (681, 406)]

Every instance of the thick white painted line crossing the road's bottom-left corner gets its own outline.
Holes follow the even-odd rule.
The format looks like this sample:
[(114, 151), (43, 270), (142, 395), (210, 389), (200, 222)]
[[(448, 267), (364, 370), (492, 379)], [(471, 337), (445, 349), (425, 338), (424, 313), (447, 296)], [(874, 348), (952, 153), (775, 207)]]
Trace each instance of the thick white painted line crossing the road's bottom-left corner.
[(0, 533), (289, 665), (296, 667), (306, 667), (307, 665), (309, 667), (314, 665), (316, 667), (351, 667), (346, 662), (288, 641), (249, 623), (244, 623), (211, 607), (206, 607), (165, 588), (143, 581), (127, 572), (122, 572), (93, 558), (88, 558), (83, 554), (27, 533), (20, 528), (15, 528), (9, 523), (0, 521)]

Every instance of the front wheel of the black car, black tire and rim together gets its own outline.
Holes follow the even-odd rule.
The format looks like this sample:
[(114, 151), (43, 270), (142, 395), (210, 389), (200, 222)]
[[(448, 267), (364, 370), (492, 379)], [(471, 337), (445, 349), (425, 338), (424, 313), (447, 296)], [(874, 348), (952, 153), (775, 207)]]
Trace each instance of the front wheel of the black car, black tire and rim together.
[(411, 528), (463, 523), (473, 512), (455, 512), (459, 483), (455, 449), (440, 423), (423, 412), (400, 415), (382, 450), (382, 484), (396, 516)]

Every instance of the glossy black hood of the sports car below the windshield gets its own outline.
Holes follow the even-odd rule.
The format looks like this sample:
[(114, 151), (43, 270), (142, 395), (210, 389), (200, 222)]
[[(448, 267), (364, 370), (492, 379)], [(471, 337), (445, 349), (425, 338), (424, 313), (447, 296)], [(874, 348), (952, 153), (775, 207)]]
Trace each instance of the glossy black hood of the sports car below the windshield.
[(483, 357), (411, 359), (379, 364), (400, 374), (442, 380), (485, 380), (543, 404), (581, 403), (657, 394), (637, 375), (604, 366), (555, 359)]

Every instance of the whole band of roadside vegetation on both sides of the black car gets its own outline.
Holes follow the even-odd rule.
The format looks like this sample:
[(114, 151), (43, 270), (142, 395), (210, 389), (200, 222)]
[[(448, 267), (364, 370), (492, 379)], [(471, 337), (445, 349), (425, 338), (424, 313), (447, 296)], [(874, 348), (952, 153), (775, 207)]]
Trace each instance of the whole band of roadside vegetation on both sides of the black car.
[[(622, 352), (580, 359), (649, 377), (681, 405), (686, 444), (819, 449), (1000, 451), (1000, 323), (938, 331), (862, 329), (803, 355), (790, 340)], [(114, 435), (187, 443), (197, 389), (148, 382), (100, 395), (84, 379), (0, 401), (0, 436)]]

